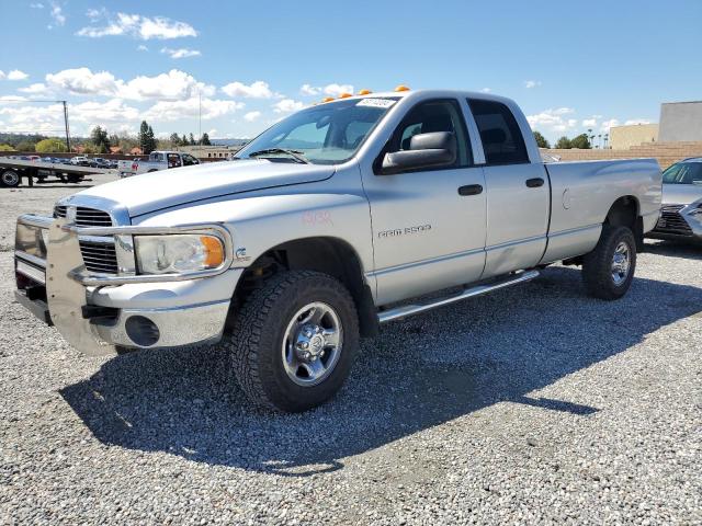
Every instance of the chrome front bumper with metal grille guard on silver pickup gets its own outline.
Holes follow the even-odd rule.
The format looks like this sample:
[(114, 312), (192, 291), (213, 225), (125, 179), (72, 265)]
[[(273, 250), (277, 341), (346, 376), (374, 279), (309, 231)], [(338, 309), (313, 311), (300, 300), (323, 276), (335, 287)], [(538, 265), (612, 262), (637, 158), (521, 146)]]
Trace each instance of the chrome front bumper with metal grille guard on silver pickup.
[(83, 230), (60, 218), (23, 216), (15, 240), (18, 301), (56, 325), (71, 345), (97, 356), (114, 354), (117, 346), (173, 347), (222, 338), (241, 268), (192, 279), (144, 276), (146, 283), (128, 276), (121, 283), (86, 272), (78, 242)]

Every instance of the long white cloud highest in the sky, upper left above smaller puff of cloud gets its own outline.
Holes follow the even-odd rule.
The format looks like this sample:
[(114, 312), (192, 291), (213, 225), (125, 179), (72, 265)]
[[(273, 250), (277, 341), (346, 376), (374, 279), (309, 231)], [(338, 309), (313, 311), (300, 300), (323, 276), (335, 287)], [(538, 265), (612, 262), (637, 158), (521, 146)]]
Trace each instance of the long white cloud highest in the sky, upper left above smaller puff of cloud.
[(185, 22), (179, 22), (165, 16), (149, 18), (127, 13), (117, 13), (116, 18), (106, 24), (82, 27), (76, 34), (91, 38), (124, 35), (143, 41), (149, 41), (151, 38), (165, 41), (184, 36), (197, 36), (195, 28)]

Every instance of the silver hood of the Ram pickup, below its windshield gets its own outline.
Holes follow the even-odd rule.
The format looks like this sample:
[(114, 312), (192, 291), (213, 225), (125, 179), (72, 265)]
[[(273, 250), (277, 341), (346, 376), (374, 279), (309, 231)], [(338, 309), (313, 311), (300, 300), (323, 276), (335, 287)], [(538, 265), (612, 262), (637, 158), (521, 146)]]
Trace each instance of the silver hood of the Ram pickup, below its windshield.
[(134, 175), (84, 190), (76, 197), (109, 199), (125, 206), (129, 217), (136, 217), (228, 194), (322, 181), (333, 175), (335, 170), (332, 165), (264, 159), (212, 162)]

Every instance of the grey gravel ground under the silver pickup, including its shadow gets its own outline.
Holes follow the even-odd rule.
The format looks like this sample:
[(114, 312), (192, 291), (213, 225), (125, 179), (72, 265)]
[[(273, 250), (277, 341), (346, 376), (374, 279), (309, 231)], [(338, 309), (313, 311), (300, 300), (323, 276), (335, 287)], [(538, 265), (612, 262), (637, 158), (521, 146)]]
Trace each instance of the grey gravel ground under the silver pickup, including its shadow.
[(272, 415), (214, 348), (88, 358), (13, 301), (15, 216), (70, 192), (0, 191), (0, 523), (702, 524), (702, 249), (388, 324)]

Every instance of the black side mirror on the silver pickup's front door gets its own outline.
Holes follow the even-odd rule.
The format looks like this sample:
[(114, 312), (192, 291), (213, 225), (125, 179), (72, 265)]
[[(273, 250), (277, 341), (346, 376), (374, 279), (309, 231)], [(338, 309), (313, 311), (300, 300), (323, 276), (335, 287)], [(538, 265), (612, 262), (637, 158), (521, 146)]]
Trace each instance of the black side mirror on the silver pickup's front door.
[(385, 153), (381, 174), (450, 167), (456, 162), (456, 137), (452, 133), (418, 134), (410, 139), (409, 150)]

